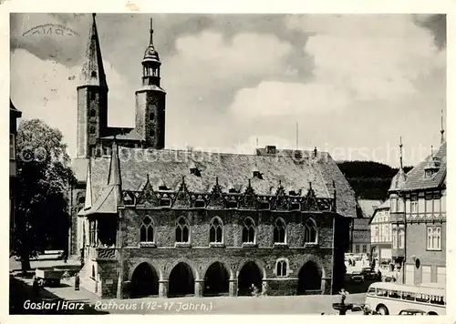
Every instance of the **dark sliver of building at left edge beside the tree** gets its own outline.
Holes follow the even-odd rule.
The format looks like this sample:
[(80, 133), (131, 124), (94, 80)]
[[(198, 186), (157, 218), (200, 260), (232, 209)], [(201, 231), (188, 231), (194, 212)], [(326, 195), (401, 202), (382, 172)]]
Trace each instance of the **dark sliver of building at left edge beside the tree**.
[(22, 116), (22, 112), (16, 109), (13, 102), (9, 101), (9, 242), (10, 250), (14, 248), (14, 229), (16, 226), (16, 175), (17, 175), (17, 118)]

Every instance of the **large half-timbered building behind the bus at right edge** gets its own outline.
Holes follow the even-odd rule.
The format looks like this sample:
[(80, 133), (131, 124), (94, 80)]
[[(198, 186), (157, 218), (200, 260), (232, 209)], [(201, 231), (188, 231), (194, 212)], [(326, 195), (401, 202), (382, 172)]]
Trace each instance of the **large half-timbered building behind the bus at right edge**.
[[(400, 188), (400, 197), (391, 202), (391, 207), (398, 204), (397, 217), (392, 221), (399, 244), (393, 248), (393, 257), (403, 262), (400, 277), (407, 284), (445, 285), (446, 174), (447, 145), (443, 141), (437, 152), (409, 171)], [(404, 239), (402, 228), (405, 229), (404, 248), (400, 246)]]

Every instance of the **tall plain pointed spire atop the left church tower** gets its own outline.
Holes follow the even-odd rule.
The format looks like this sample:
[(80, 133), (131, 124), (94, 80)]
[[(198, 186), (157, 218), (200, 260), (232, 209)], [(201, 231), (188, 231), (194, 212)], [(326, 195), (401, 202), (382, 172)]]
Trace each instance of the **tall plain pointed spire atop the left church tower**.
[(80, 86), (103, 86), (108, 88), (99, 46), (95, 15), (92, 14), (92, 26), (88, 32), (88, 46), (82, 65)]

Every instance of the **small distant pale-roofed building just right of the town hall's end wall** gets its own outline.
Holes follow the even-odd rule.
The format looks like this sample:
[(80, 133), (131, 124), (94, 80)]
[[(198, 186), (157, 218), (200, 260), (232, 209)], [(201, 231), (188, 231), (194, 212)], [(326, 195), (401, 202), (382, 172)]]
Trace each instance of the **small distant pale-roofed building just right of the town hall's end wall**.
[(370, 253), (370, 218), (374, 215), (374, 210), (381, 204), (381, 200), (358, 199), (357, 218), (353, 219), (353, 238), (352, 253)]

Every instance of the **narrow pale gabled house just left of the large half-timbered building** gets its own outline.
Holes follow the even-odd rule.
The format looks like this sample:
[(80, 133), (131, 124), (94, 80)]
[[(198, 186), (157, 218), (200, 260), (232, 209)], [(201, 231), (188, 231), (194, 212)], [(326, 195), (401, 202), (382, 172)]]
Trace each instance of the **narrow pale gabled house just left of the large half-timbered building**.
[(375, 267), (391, 262), (392, 226), (389, 217), (389, 199), (375, 208), (370, 219), (370, 255)]

